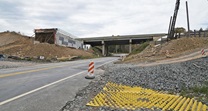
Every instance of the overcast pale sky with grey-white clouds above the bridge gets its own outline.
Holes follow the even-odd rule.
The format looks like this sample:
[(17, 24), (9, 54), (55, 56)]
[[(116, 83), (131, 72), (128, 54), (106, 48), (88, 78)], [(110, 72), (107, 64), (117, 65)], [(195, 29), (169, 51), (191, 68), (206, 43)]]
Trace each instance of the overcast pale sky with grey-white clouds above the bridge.
[[(0, 0), (0, 32), (60, 28), (78, 37), (166, 33), (176, 0)], [(189, 0), (191, 29), (208, 28), (208, 1)], [(176, 27), (187, 27), (181, 0)]]

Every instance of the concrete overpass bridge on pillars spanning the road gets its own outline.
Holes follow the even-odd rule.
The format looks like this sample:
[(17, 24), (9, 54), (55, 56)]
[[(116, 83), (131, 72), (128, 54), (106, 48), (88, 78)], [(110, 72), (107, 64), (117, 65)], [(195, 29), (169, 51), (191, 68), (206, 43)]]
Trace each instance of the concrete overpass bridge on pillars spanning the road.
[(140, 44), (146, 41), (152, 41), (154, 38), (167, 35), (166, 33), (157, 34), (140, 34), (140, 35), (117, 35), (117, 36), (103, 36), (103, 37), (86, 37), (76, 38), (76, 40), (82, 41), (83, 44), (89, 44), (93, 46), (102, 46), (102, 54), (105, 55), (108, 52), (109, 45), (129, 45), (129, 53), (131, 53), (132, 44)]

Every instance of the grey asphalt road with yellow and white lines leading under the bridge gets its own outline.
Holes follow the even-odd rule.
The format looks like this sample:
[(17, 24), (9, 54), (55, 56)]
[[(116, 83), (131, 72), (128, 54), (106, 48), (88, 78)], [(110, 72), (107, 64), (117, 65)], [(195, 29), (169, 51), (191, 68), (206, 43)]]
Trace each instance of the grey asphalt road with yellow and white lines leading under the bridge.
[(90, 61), (99, 67), (117, 59), (108, 57), (1, 69), (0, 111), (58, 111), (92, 81), (84, 78)]

